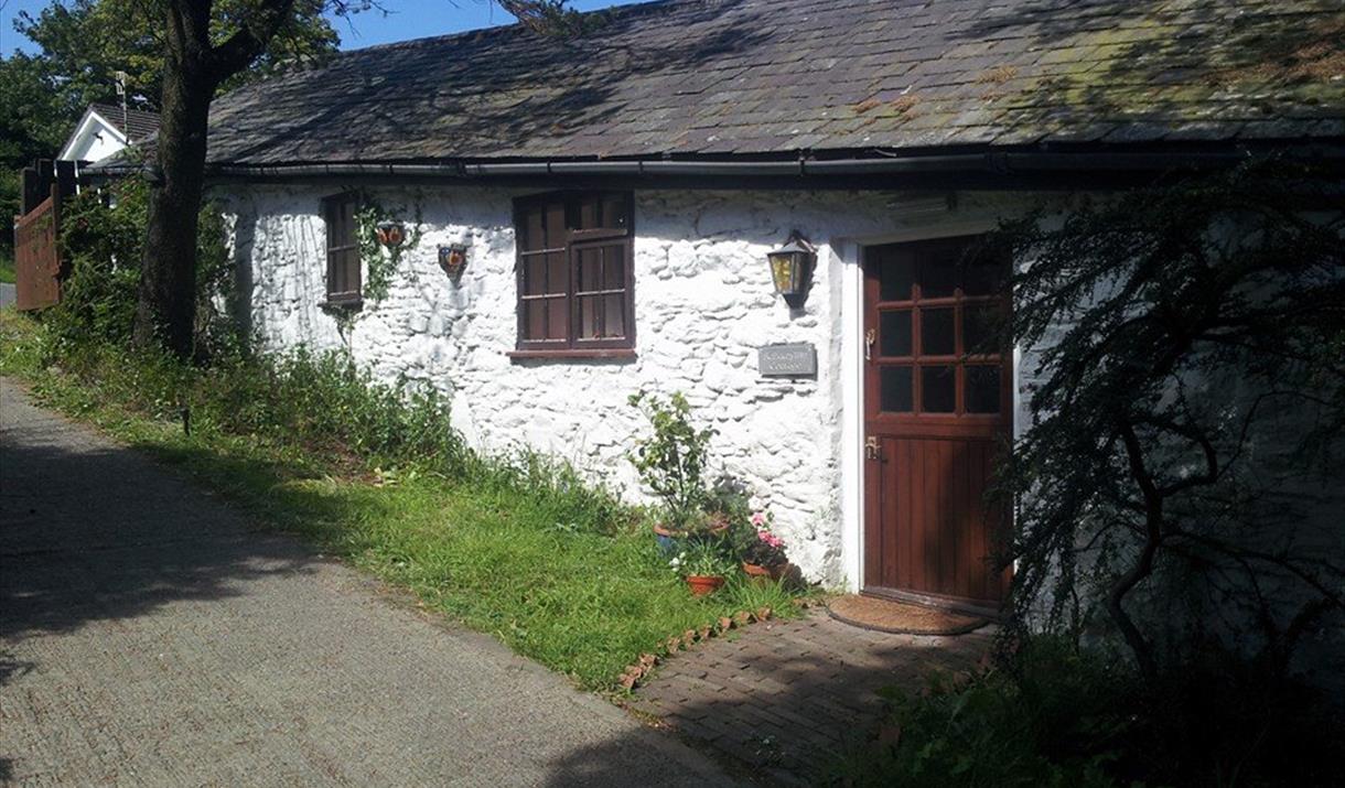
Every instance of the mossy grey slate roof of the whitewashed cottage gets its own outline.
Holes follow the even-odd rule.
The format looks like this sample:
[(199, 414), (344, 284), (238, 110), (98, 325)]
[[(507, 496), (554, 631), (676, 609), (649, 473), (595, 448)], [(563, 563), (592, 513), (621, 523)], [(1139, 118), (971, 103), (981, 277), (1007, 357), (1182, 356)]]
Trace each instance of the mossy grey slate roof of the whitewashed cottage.
[(214, 164), (1345, 139), (1345, 0), (664, 0), (342, 52), (215, 101)]

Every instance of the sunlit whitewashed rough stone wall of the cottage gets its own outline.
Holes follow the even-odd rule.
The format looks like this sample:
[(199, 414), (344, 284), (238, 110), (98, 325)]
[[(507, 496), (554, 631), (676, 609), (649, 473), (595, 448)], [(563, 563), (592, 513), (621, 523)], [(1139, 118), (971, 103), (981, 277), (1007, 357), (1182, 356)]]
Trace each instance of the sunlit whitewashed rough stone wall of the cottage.
[[(721, 469), (776, 515), (796, 563), (842, 580), (842, 262), (833, 239), (881, 237), (902, 225), (893, 195), (855, 192), (635, 192), (636, 358), (514, 360), (512, 198), (494, 188), (383, 190), (378, 199), (424, 235), (402, 255), (387, 297), (344, 335), (325, 296), (319, 200), (339, 187), (249, 187), (222, 195), (253, 321), (277, 348), (346, 346), (379, 375), (452, 395), (453, 420), (487, 450), (550, 452), (640, 498), (625, 459), (647, 428), (627, 405), (640, 389), (683, 391), (718, 429)], [(925, 221), (925, 219), (921, 219)], [(804, 309), (773, 294), (765, 251), (799, 230), (818, 245)], [(438, 268), (441, 243), (467, 242), (457, 284)], [(765, 379), (756, 348), (816, 347), (816, 379)], [(855, 549), (854, 546), (850, 547)]]

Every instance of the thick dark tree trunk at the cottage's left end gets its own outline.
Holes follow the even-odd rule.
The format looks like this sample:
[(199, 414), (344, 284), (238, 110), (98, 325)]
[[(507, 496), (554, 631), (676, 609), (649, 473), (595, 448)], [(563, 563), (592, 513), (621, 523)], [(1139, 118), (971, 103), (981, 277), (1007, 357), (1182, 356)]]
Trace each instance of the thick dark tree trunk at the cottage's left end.
[[(183, 61), (190, 59), (183, 58)], [(145, 255), (140, 269), (136, 344), (163, 343), (179, 358), (192, 350), (196, 309), (196, 221), (204, 190), (206, 126), (215, 85), (200, 65), (164, 70), (149, 190)]]

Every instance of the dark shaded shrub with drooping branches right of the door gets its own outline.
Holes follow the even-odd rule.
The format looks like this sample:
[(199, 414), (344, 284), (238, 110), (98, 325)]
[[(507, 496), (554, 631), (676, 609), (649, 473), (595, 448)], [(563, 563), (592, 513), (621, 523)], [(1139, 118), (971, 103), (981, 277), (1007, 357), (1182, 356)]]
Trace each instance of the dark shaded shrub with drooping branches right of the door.
[[(1020, 628), (1045, 609), (1079, 631), (1102, 598), (1155, 676), (1189, 658), (1200, 609), (1283, 655), (1345, 608), (1340, 555), (1295, 542), (1314, 515), (1283, 495), (1340, 479), (1345, 216), (1323, 211), (1337, 187), (1258, 161), (1002, 230), (1033, 261), (1013, 331), (1041, 348), (1032, 429), (999, 480), (1018, 502), (1003, 558), (1018, 562)], [(1131, 609), (1135, 590), (1161, 613)]]

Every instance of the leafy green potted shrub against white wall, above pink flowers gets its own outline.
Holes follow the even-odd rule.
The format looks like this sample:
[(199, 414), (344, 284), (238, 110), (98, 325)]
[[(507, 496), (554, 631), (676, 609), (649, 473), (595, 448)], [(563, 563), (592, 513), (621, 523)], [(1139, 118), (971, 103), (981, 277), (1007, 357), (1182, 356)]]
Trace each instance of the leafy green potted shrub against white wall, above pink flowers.
[(682, 530), (703, 524), (709, 500), (705, 472), (714, 430), (691, 425), (691, 406), (681, 391), (666, 402), (640, 391), (631, 395), (629, 403), (654, 428), (652, 436), (635, 442), (631, 463), (644, 484), (663, 499), (667, 526)]

